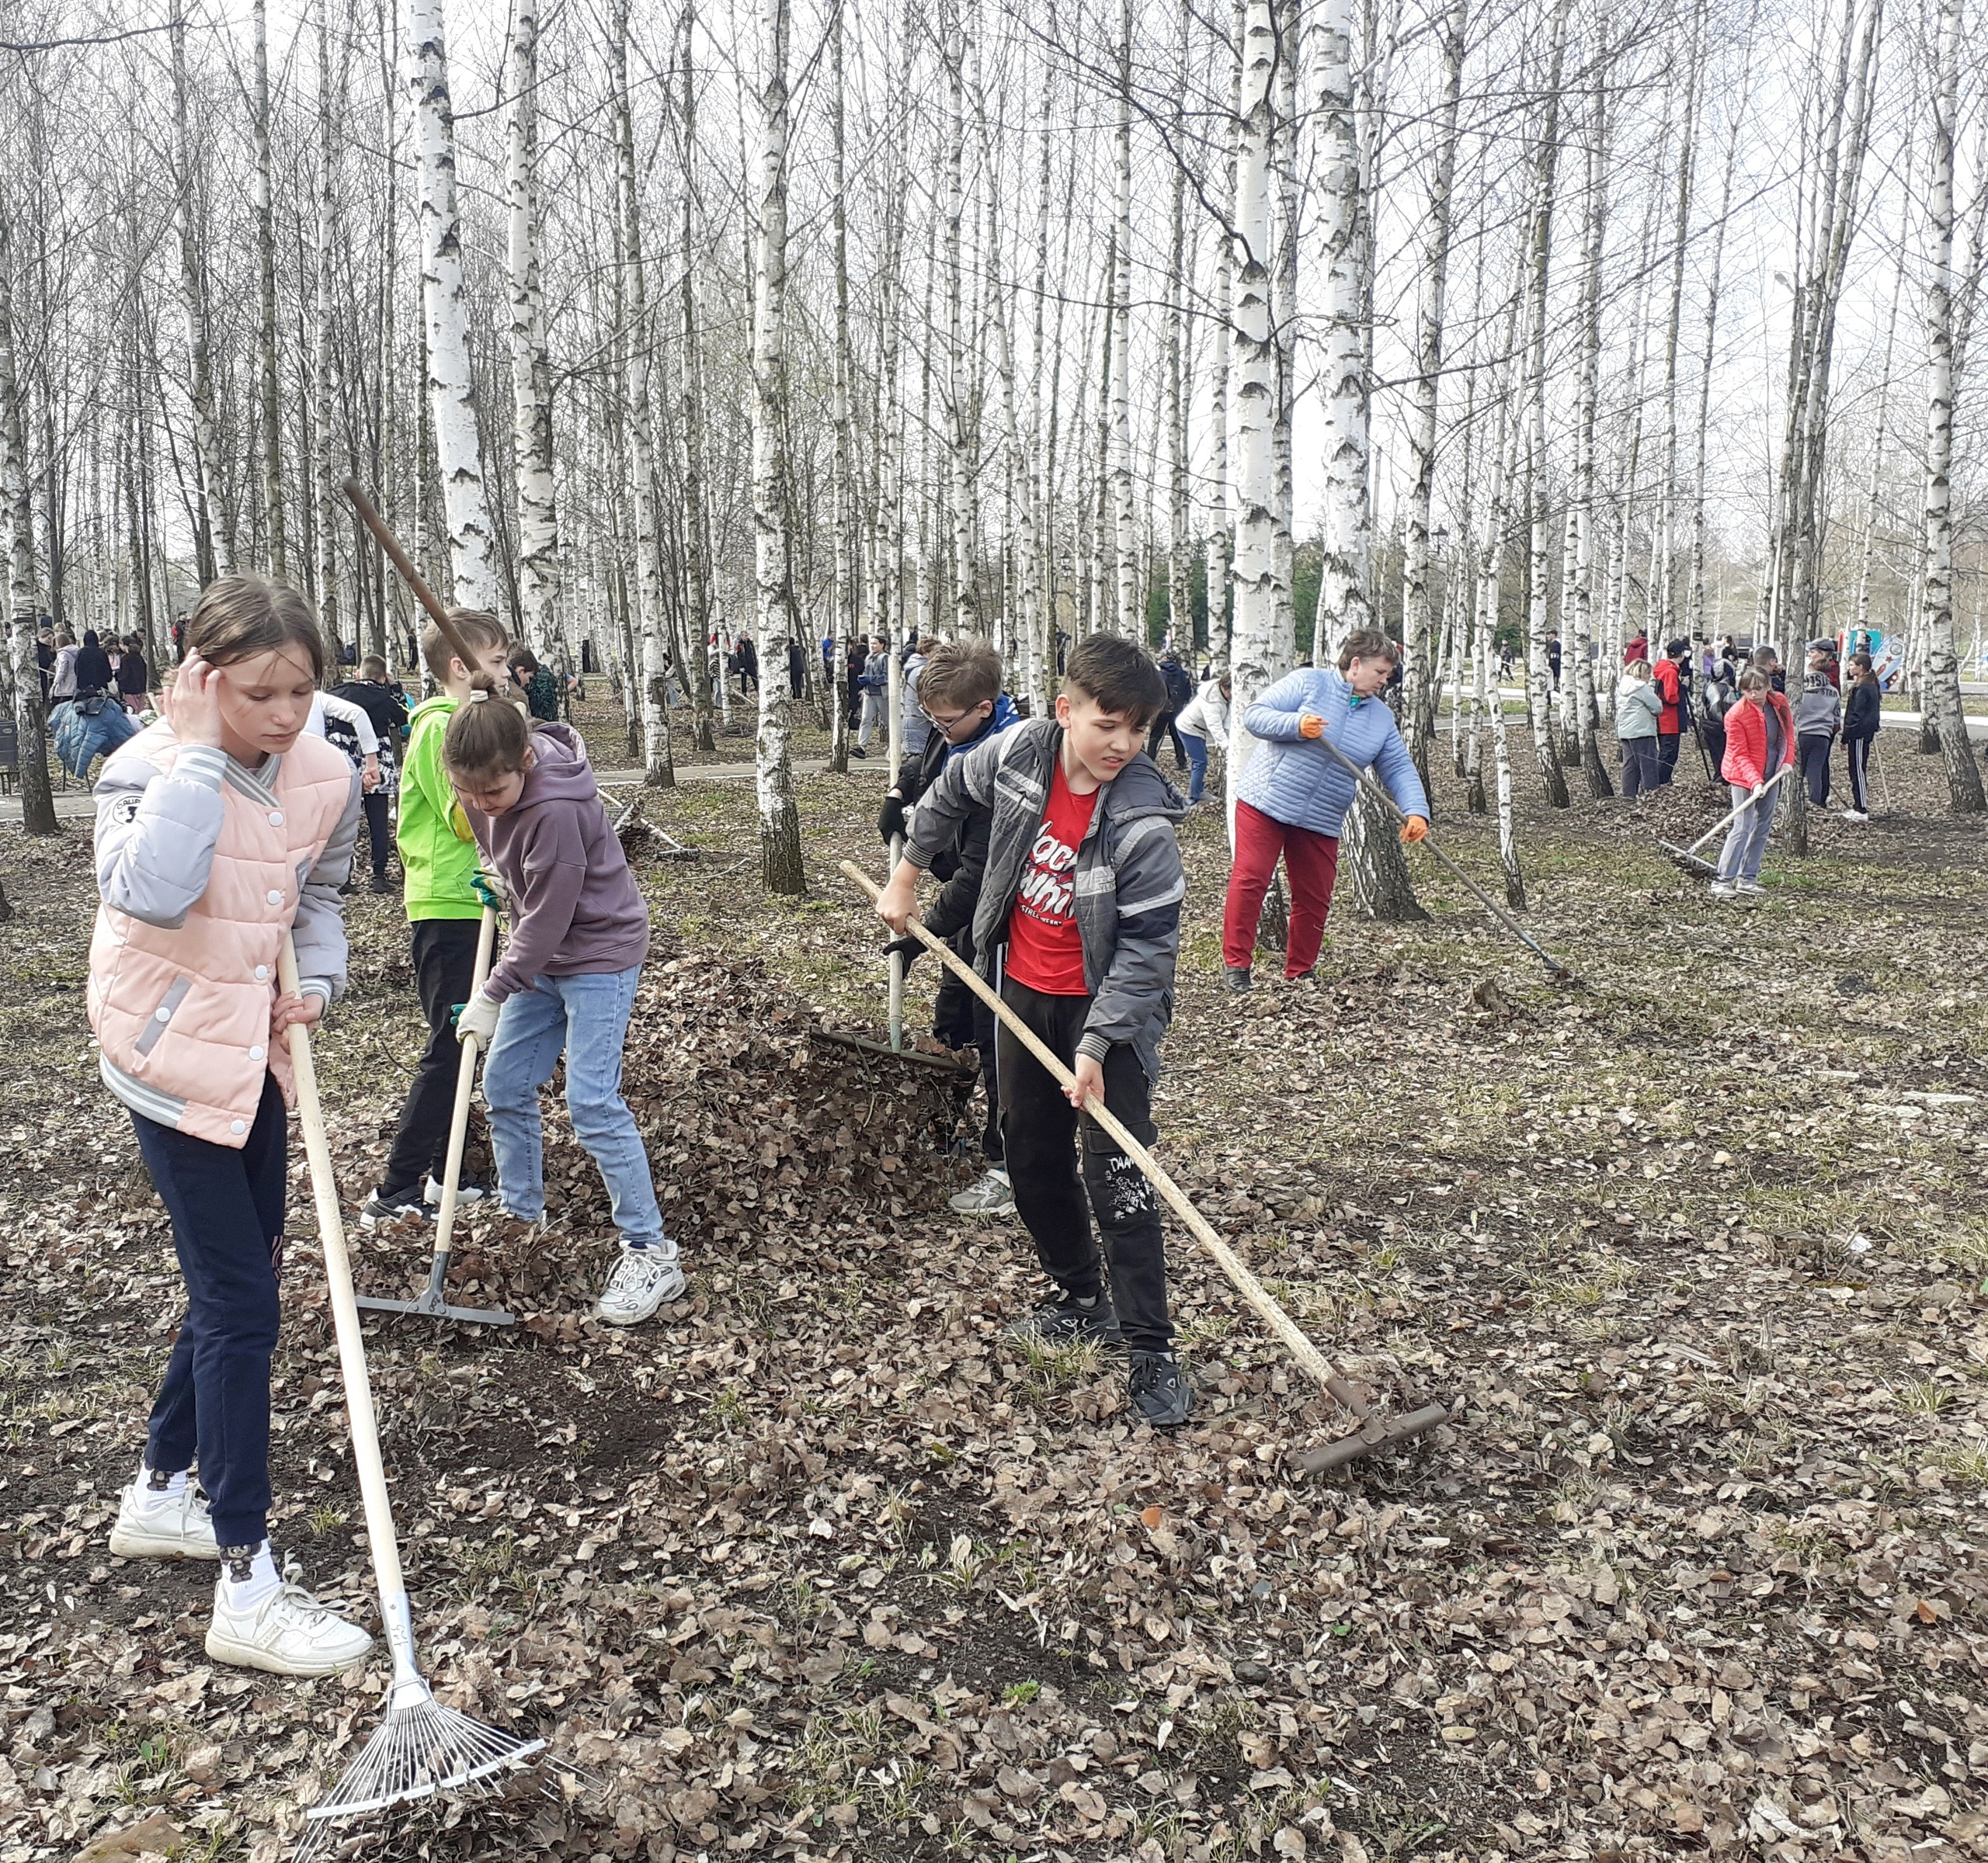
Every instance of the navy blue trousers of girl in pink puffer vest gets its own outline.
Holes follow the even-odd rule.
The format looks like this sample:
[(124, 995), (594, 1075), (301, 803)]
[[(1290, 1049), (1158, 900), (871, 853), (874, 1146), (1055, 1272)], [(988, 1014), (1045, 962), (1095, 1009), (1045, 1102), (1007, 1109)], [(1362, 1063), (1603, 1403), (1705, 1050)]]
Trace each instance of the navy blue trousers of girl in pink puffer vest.
[(145, 1466), (181, 1474), (201, 1458), (215, 1539), (268, 1537), (268, 1361), (276, 1351), (286, 1128), (262, 1080), (248, 1138), (209, 1144), (131, 1114), (145, 1170), (173, 1219), (187, 1317), (165, 1366)]

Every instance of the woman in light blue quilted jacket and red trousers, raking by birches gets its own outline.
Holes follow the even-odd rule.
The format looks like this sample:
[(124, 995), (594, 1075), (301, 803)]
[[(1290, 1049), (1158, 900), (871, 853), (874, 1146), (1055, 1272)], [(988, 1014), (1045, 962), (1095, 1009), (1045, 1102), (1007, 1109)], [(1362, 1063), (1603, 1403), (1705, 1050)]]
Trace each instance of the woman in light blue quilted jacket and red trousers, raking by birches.
[(1282, 854), (1290, 878), (1290, 935), (1284, 979), (1312, 975), (1332, 908), (1340, 832), (1358, 794), (1354, 773), (1320, 749), (1330, 741), (1356, 769), (1376, 769), (1408, 820), (1402, 840), (1429, 834), (1429, 798), (1394, 713), (1380, 701), (1402, 649), (1374, 628), (1356, 628), (1340, 647), (1338, 671), (1300, 667), (1278, 679), (1242, 723), (1260, 743), (1237, 787), (1235, 866), (1223, 908), (1223, 967), (1229, 989), (1250, 987), (1256, 920)]

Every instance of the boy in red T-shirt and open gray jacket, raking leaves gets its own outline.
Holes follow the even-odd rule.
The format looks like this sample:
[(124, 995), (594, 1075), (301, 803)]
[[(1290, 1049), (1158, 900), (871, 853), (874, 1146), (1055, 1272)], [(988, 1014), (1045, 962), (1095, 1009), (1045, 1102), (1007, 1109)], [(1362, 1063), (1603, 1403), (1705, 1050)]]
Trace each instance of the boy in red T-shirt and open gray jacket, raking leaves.
[(1070, 655), (1054, 719), (1012, 725), (944, 767), (877, 902), (903, 935), (918, 910), (918, 874), (972, 808), (992, 810), (974, 961), (994, 975), (1002, 955), (1002, 1001), (1077, 1082), (1066, 1094), (1002, 1025), (996, 1073), (1016, 1212), (1058, 1287), (1016, 1333), (1058, 1345), (1123, 1341), (1133, 1408), (1161, 1430), (1187, 1420), (1193, 1390), (1173, 1357), (1159, 1204), (1079, 1108), (1095, 1094), (1141, 1144), (1157, 1136), (1151, 1092), (1187, 896), (1173, 838), (1187, 804), (1141, 749), (1165, 703), (1143, 647), (1089, 636)]

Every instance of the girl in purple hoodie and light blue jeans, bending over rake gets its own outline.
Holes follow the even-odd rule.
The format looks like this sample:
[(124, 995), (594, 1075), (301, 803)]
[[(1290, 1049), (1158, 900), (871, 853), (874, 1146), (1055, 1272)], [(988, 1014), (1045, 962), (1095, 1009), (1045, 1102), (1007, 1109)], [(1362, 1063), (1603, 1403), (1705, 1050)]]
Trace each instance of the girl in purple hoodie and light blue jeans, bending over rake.
[(638, 1325), (684, 1291), (620, 1090), (648, 906), (571, 725), (529, 725), (479, 689), (449, 719), (441, 759), (511, 912), (503, 961), (457, 1025), (487, 1055), (499, 1208), (527, 1223), (545, 1218), (539, 1088), (565, 1055), (573, 1132), (600, 1166), (622, 1243), (598, 1317)]

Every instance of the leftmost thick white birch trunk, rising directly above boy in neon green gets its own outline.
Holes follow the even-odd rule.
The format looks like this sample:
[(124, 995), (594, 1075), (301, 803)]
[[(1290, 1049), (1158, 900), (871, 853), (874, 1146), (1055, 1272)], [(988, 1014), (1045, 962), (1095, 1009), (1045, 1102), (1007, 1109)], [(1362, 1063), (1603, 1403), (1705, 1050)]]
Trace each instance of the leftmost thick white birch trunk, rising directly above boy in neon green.
[(441, 0), (408, 0), (408, 89), (414, 99), (421, 220), (421, 316), (427, 334), (427, 405), (449, 580), (457, 608), (497, 610), (497, 564), (483, 495), (475, 383), (469, 373), (469, 308), (463, 300), (461, 220), (455, 211), (455, 121)]

